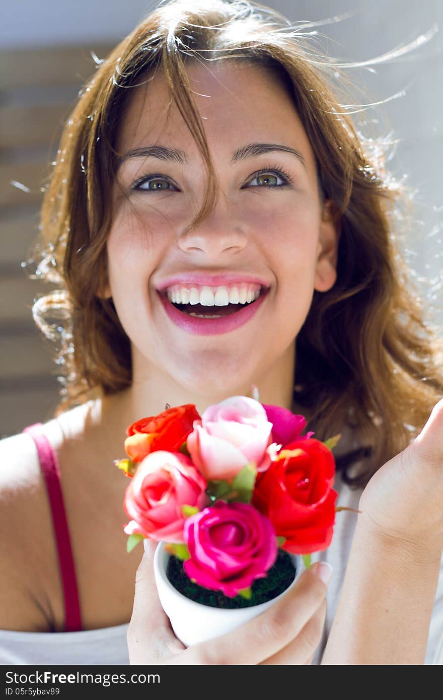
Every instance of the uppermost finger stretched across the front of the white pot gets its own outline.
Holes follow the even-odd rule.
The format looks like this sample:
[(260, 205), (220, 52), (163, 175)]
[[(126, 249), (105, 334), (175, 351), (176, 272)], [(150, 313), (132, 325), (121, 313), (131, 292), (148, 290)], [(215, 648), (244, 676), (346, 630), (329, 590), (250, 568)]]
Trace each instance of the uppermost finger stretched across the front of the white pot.
[[(323, 565), (323, 562), (322, 562)], [(328, 565), (326, 568), (329, 569)], [(293, 588), (265, 612), (232, 632), (188, 647), (195, 664), (260, 664), (277, 654), (300, 634), (325, 598), (323, 566), (304, 571)]]

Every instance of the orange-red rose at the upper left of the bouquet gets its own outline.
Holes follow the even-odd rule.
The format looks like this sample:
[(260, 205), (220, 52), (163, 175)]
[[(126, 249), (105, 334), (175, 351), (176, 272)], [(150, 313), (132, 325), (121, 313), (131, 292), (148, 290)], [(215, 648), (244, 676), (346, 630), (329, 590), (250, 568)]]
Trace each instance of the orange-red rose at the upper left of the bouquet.
[(149, 416), (132, 423), (127, 428), (125, 451), (134, 462), (141, 462), (150, 452), (164, 449), (178, 452), (193, 430), (193, 423), (200, 420), (193, 403), (169, 408), (157, 416)]

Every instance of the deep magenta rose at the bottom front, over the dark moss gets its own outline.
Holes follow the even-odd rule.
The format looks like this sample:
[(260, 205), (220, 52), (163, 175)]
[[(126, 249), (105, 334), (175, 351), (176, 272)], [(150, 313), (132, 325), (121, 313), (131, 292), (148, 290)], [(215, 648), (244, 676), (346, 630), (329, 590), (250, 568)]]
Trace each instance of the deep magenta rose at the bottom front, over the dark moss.
[(237, 596), (263, 578), (277, 556), (271, 522), (249, 503), (218, 500), (185, 521), (190, 559), (183, 563), (200, 586)]

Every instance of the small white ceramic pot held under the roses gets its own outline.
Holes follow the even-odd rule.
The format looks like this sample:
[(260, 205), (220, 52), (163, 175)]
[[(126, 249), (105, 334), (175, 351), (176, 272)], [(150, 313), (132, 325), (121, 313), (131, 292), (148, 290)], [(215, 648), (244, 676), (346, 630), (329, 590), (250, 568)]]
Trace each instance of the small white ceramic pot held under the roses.
[(283, 591), (279, 596), (266, 603), (260, 603), (260, 605), (251, 605), (250, 608), (211, 608), (209, 605), (202, 605), (202, 603), (196, 603), (186, 598), (169, 582), (166, 575), (169, 556), (171, 556), (169, 552), (164, 549), (164, 542), (160, 542), (154, 555), (155, 583), (160, 603), (171, 620), (172, 629), (176, 637), (187, 647), (230, 632), (247, 622), (248, 619), (260, 615), (260, 612), (284, 596), (302, 573), (300, 556), (291, 555), (296, 568), (295, 578), (286, 591)]

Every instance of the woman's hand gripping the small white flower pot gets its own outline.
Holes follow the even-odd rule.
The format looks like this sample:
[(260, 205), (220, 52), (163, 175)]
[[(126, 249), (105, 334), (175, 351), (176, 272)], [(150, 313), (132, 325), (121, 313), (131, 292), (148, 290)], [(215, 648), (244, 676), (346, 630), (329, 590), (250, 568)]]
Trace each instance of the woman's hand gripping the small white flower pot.
[(153, 571), (155, 546), (146, 540), (136, 573), (127, 632), (130, 664), (311, 664), (323, 630), (330, 567), (313, 564), (261, 615), (232, 632), (187, 648), (174, 635), (160, 605)]

